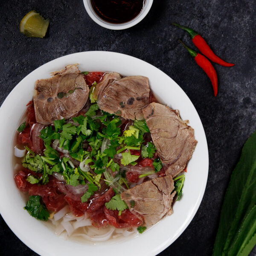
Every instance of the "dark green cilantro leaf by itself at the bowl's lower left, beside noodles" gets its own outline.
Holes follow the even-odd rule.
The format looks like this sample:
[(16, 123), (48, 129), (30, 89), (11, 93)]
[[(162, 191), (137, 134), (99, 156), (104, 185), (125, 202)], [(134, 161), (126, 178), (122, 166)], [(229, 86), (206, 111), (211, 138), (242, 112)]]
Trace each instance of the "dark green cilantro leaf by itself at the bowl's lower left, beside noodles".
[(26, 209), (32, 217), (47, 221), (50, 215), (46, 207), (40, 203), (40, 198), (41, 196), (39, 195), (31, 195), (24, 209)]

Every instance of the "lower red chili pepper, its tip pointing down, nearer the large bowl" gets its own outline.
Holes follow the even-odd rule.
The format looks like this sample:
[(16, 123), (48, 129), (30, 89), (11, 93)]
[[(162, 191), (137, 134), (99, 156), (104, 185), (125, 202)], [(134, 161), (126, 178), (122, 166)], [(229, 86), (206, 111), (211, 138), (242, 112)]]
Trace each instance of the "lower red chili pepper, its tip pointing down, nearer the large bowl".
[(179, 42), (183, 45), (183, 47), (185, 47), (188, 50), (190, 55), (195, 59), (195, 62), (198, 64), (198, 66), (201, 67), (207, 74), (207, 76), (212, 82), (214, 96), (216, 96), (218, 92), (218, 79), (216, 71), (212, 66), (211, 62), (206, 57), (204, 57), (204, 55), (201, 55), (200, 53), (187, 47), (185, 44), (183, 44), (181, 40), (179, 40)]

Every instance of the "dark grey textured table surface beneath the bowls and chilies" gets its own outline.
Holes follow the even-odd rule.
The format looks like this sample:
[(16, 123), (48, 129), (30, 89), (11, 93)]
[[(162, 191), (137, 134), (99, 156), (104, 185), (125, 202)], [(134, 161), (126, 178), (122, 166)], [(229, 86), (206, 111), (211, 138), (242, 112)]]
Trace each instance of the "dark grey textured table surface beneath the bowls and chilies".
[[(30, 10), (49, 17), (47, 36), (27, 38), (19, 23)], [(209, 176), (201, 206), (165, 255), (211, 255), (230, 174), (242, 145), (256, 129), (256, 1), (154, 0), (143, 21), (112, 31), (98, 26), (82, 0), (0, 1), (0, 104), (26, 75), (48, 61), (73, 52), (122, 52), (153, 64), (186, 92), (204, 125), (209, 147)], [(177, 42), (195, 49), (172, 22), (194, 28), (231, 68), (214, 64), (219, 91)], [(11, 113), (10, 113), (11, 114)], [(2, 145), (3, 146), (3, 145)], [(14, 202), (12, 202), (14, 203)], [(0, 218), (0, 255), (36, 255)], [(256, 255), (256, 248), (250, 255)]]

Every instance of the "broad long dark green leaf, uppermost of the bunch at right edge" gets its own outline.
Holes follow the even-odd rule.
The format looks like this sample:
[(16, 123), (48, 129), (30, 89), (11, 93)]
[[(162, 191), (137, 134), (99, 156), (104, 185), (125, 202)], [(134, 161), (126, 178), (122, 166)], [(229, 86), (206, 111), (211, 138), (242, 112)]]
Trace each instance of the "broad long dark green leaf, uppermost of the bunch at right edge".
[[(230, 179), (213, 248), (213, 256), (228, 255), (241, 223), (256, 204), (256, 131), (244, 144)], [(241, 239), (241, 238), (240, 238)], [(246, 239), (244, 236), (243, 239)], [(242, 239), (241, 239), (242, 240)], [(246, 255), (246, 254), (244, 254)]]

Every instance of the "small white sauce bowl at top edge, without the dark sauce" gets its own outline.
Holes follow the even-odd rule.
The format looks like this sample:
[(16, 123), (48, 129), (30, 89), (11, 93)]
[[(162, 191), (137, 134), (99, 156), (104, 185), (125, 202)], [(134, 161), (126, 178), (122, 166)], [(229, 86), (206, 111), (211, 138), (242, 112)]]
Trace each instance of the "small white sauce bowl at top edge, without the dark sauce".
[(102, 20), (93, 10), (92, 4), (90, 0), (83, 0), (84, 1), (84, 7), (88, 13), (88, 15), (92, 18), (93, 21), (95, 21), (100, 26), (106, 28), (106, 29), (114, 29), (114, 30), (120, 30), (120, 29), (128, 29), (137, 23), (139, 23), (141, 20), (144, 19), (144, 17), (148, 14), (153, 0), (146, 0), (143, 9), (141, 10), (140, 14), (137, 15), (134, 19), (120, 24), (114, 24), (107, 22), (105, 20)]

